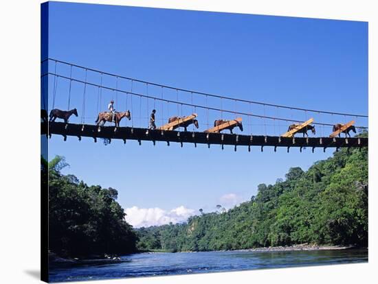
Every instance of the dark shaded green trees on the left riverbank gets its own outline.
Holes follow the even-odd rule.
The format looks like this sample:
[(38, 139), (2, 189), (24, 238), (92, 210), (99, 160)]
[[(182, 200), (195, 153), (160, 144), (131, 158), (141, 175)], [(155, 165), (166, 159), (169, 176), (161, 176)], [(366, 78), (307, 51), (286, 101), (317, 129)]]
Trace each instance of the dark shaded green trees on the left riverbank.
[(66, 166), (60, 156), (41, 163), (42, 176), (49, 177), (49, 250), (63, 256), (134, 252), (137, 236), (124, 220), (117, 190), (61, 174)]

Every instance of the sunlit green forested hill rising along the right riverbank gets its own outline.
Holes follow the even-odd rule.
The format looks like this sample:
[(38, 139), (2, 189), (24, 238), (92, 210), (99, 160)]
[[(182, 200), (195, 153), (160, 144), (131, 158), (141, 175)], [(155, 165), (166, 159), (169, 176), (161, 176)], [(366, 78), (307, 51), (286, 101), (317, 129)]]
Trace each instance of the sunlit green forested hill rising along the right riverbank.
[(368, 244), (368, 149), (346, 149), (227, 212), (137, 230), (140, 250), (236, 250), (293, 244)]

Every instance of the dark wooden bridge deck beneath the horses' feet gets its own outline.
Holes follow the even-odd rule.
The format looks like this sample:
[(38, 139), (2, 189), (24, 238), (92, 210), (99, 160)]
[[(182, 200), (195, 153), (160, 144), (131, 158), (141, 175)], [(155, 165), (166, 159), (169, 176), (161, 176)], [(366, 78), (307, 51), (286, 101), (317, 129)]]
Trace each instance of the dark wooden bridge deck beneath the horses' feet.
[[(215, 145), (244, 145), (244, 146), (261, 146), (261, 150), (265, 146), (276, 147), (368, 147), (368, 138), (338, 138), (338, 137), (271, 137), (263, 135), (242, 135), (242, 134), (222, 134), (222, 133), (205, 133), (205, 132), (179, 132), (172, 130), (147, 130), (146, 128), (131, 128), (114, 126), (102, 126), (98, 132), (98, 126), (89, 124), (73, 124), (67, 125), (63, 122), (41, 123), (41, 134), (58, 134), (67, 138), (67, 136), (91, 137), (95, 141), (98, 138), (105, 139), (121, 139), (141, 141), (166, 141), (177, 143), (194, 143)], [(288, 148), (289, 151), (289, 148)]]

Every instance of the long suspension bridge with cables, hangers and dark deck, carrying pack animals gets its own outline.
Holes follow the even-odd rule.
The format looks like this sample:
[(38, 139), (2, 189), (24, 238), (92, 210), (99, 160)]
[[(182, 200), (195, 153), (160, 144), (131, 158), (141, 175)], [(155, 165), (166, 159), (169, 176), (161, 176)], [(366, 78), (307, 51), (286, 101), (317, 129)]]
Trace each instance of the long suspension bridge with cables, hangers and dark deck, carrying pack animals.
[[(118, 125), (96, 123), (99, 113), (115, 109), (129, 116)], [(41, 133), (67, 137), (156, 141), (238, 146), (368, 147), (368, 138), (352, 137), (368, 131), (368, 116), (283, 106), (236, 99), (147, 82), (56, 59), (41, 62)], [(49, 119), (58, 109), (71, 115), (67, 121)], [(156, 119), (151, 126), (151, 111)], [(71, 110), (71, 112), (69, 112)], [(76, 112), (76, 113), (75, 113)], [(76, 117), (77, 115), (77, 117)], [(49, 121), (51, 120), (51, 121)], [(290, 127), (289, 127), (290, 126)], [(357, 130), (357, 131), (356, 131)], [(354, 133), (353, 133), (354, 132)], [(350, 135), (352, 134), (352, 135)], [(297, 136), (296, 136), (297, 135)], [(298, 136), (299, 135), (299, 136)]]

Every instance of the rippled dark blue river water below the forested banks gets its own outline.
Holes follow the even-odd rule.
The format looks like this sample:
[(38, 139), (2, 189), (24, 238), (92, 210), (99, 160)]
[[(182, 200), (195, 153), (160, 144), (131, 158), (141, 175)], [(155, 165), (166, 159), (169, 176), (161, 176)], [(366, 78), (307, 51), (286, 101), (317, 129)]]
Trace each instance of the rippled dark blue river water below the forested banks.
[(307, 265), (362, 263), (368, 250), (312, 250), (281, 252), (161, 252), (125, 255), (120, 261), (88, 260), (80, 264), (50, 265), (51, 282), (118, 279), (137, 276), (288, 268)]

